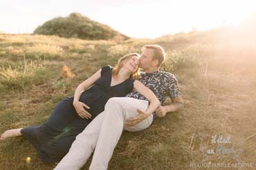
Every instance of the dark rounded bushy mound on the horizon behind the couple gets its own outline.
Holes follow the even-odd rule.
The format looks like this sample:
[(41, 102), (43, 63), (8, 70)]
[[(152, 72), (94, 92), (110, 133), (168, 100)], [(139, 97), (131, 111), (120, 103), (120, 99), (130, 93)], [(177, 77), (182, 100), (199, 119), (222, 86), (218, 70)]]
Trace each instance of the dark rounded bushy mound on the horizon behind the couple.
[(68, 17), (57, 17), (46, 21), (35, 29), (34, 34), (57, 35), (65, 38), (89, 40), (129, 39), (108, 25), (95, 22), (80, 13), (72, 13)]

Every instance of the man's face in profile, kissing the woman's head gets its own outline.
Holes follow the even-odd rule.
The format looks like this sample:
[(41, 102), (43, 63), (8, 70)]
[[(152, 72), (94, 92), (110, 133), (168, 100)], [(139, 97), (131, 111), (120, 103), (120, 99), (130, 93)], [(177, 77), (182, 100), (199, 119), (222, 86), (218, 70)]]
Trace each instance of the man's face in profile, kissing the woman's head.
[(152, 67), (154, 56), (154, 50), (151, 48), (146, 48), (140, 55), (139, 59), (139, 67), (147, 70), (148, 68)]

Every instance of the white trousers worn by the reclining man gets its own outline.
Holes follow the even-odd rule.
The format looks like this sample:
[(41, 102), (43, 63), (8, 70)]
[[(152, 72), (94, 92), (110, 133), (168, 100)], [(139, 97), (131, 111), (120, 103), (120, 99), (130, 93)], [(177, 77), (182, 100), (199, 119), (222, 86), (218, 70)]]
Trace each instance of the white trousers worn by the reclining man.
[(153, 115), (132, 127), (124, 127), (128, 118), (138, 116), (137, 109), (147, 110), (147, 100), (135, 98), (110, 98), (94, 120), (77, 135), (68, 153), (57, 164), (54, 170), (80, 169), (94, 151), (90, 169), (107, 169), (123, 130), (140, 131), (152, 124)]

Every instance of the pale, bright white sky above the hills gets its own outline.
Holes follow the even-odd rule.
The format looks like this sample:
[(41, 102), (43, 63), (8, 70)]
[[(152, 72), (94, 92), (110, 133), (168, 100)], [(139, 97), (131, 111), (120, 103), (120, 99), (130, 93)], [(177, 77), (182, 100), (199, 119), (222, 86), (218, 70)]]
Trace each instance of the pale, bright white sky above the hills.
[(6, 0), (0, 32), (33, 33), (55, 17), (79, 12), (134, 38), (238, 25), (256, 11), (255, 0)]

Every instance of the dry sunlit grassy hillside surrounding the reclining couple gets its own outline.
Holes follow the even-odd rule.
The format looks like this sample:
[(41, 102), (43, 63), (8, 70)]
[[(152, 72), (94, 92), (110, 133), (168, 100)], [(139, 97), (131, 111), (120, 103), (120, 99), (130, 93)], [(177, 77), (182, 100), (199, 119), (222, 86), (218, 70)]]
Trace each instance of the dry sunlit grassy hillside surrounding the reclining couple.
[[(223, 29), (117, 43), (0, 34), (0, 133), (44, 123), (55, 105), (73, 95), (100, 66), (114, 65), (123, 54), (157, 43), (167, 51), (161, 69), (178, 79), (185, 107), (158, 118), (144, 131), (125, 132), (109, 169), (195, 169), (191, 162), (255, 164), (256, 46), (247, 36), (236, 41), (236, 35)], [(233, 152), (207, 153), (218, 147), (211, 142), (214, 135), (230, 136), (230, 143), (221, 145), (234, 144)], [(19, 137), (0, 142), (0, 167), (40, 170), (55, 164), (44, 164), (33, 146)]]

